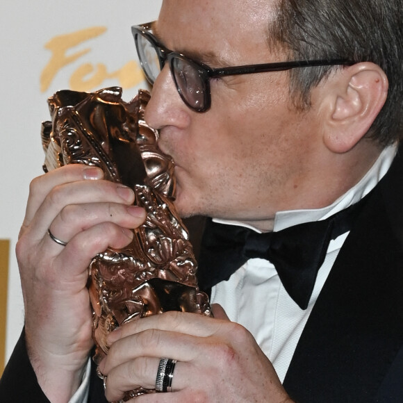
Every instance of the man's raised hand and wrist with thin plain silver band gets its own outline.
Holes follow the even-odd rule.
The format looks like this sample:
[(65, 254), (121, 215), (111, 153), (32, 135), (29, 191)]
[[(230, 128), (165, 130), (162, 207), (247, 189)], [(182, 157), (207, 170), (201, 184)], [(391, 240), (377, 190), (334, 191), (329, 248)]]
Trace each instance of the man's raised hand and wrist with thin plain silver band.
[(85, 165), (34, 179), (17, 242), (28, 354), (51, 402), (75, 392), (92, 347), (90, 261), (107, 247), (128, 245), (145, 219), (131, 206), (133, 190), (102, 179), (99, 168)]

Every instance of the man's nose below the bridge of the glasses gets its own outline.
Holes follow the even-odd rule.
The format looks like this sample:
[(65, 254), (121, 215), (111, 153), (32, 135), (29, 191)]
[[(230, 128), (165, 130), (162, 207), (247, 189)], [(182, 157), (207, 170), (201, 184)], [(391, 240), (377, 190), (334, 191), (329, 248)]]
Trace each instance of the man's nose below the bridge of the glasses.
[(147, 124), (158, 130), (164, 126), (177, 126), (183, 129), (189, 124), (191, 113), (176, 90), (170, 68), (165, 65), (156, 78), (151, 99), (145, 109)]

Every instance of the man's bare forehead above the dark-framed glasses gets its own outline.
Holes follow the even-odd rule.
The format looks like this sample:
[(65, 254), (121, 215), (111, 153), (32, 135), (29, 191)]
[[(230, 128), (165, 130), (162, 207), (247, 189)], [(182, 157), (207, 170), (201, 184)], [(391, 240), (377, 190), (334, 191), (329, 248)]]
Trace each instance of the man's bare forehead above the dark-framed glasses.
[(263, 50), (274, 15), (273, 0), (164, 0), (156, 31), (169, 49), (237, 59)]

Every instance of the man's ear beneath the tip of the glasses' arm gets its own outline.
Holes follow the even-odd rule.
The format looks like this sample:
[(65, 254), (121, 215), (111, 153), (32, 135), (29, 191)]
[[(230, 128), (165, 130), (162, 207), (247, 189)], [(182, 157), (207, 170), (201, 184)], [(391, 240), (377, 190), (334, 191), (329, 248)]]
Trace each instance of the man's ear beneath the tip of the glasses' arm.
[(384, 106), (388, 79), (381, 67), (364, 62), (336, 72), (329, 85), (323, 140), (331, 151), (344, 153), (363, 138)]

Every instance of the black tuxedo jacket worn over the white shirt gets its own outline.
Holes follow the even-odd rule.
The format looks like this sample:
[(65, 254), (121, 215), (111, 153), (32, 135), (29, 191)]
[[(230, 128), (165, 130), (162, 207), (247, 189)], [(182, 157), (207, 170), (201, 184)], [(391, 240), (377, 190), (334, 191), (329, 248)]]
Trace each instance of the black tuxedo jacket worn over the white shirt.
[[(340, 249), (283, 384), (298, 403), (403, 402), (403, 146)], [(48, 402), (24, 334), (0, 401)], [(89, 402), (106, 402), (94, 373)]]

